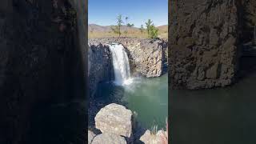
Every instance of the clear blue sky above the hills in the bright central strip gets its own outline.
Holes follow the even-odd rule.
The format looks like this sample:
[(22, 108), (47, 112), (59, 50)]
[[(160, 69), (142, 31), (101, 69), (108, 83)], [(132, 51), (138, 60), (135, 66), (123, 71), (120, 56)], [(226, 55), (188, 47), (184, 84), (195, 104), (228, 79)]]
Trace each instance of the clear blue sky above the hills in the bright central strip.
[(88, 0), (89, 24), (115, 25), (118, 14), (137, 27), (145, 26), (147, 19), (155, 26), (167, 25), (168, 0)]

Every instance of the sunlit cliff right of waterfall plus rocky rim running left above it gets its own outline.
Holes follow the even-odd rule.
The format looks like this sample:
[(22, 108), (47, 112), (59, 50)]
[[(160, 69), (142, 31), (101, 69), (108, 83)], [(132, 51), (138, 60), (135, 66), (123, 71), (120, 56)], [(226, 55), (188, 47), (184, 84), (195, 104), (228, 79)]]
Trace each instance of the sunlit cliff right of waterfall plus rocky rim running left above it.
[(166, 41), (140, 38), (94, 38), (89, 40), (89, 43), (102, 43), (102, 45), (110, 42), (121, 43), (126, 48), (133, 74), (150, 78), (164, 73), (168, 57)]

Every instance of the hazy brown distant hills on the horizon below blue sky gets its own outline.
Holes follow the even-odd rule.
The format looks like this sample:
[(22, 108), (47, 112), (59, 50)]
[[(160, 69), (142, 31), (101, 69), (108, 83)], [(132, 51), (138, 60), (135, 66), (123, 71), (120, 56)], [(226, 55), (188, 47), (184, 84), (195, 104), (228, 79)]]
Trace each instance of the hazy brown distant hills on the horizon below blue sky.
[[(168, 26), (164, 25), (164, 26), (158, 26), (159, 30), (168, 30)], [(89, 24), (88, 25), (88, 30), (93, 31), (93, 32), (99, 32), (99, 33), (108, 33), (111, 30), (111, 26), (99, 26), (96, 24)], [(121, 30), (122, 31), (137, 31), (139, 30), (138, 27), (129, 27), (129, 26), (121, 26)]]

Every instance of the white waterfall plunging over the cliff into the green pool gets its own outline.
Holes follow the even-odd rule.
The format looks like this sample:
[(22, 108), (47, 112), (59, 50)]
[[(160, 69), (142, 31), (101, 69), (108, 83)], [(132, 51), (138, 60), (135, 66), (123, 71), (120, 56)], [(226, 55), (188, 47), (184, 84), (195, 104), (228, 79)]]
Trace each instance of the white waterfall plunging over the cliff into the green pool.
[(129, 85), (131, 83), (130, 64), (125, 48), (118, 43), (112, 43), (109, 46), (114, 66), (115, 83), (120, 86)]

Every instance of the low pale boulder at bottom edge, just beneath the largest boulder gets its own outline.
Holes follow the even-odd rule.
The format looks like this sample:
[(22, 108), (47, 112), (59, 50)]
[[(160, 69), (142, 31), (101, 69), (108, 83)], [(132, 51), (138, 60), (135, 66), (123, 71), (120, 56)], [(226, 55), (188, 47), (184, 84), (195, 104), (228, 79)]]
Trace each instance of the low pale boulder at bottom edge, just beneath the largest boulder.
[(98, 134), (92, 144), (126, 144), (126, 139), (115, 134)]

